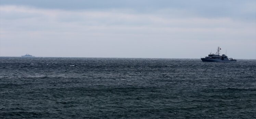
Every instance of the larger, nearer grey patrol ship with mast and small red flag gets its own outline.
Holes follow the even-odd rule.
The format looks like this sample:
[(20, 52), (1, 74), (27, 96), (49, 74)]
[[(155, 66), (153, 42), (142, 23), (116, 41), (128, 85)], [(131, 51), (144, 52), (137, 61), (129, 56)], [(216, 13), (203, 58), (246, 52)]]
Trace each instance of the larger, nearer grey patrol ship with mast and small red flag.
[(217, 52), (215, 54), (210, 53), (205, 58), (201, 58), (203, 62), (236, 62), (236, 59), (228, 58), (225, 54), (220, 54), (221, 48), (218, 47)]

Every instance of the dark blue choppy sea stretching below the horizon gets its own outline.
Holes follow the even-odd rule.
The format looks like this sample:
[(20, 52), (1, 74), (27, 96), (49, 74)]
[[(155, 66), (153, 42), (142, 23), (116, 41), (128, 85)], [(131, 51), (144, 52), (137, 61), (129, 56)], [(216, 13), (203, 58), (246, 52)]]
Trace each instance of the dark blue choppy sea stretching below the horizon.
[(0, 118), (256, 118), (256, 60), (0, 57)]

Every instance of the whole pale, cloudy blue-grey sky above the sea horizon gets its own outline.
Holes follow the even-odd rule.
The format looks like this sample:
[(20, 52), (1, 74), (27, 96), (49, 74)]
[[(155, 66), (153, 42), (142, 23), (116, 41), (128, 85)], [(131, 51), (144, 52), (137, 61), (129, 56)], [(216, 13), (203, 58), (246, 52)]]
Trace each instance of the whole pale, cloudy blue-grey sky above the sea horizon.
[(256, 0), (0, 0), (0, 56), (256, 59)]

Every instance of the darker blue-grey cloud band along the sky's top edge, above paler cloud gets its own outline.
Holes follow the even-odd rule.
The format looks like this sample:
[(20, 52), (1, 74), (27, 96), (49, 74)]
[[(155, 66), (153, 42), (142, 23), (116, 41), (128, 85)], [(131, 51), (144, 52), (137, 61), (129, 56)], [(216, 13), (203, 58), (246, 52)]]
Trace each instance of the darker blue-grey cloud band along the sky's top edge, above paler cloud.
[(94, 11), (130, 9), (138, 13), (171, 9), (185, 11), (187, 14), (183, 14), (184, 16), (194, 14), (208, 18), (233, 17), (247, 21), (255, 20), (255, 4), (255, 0), (1, 0), (1, 5), (24, 5), (41, 9)]

